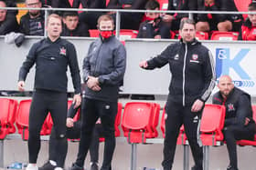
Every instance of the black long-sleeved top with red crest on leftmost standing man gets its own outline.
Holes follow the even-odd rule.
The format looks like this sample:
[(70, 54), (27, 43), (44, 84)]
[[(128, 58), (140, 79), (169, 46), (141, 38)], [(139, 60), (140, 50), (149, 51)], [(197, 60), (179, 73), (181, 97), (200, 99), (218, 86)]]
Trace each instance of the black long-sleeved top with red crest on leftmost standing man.
[(75, 46), (59, 37), (55, 42), (44, 38), (35, 43), (19, 70), (19, 81), (25, 81), (30, 68), (36, 64), (35, 89), (67, 92), (68, 65), (75, 94), (80, 94), (80, 69)]

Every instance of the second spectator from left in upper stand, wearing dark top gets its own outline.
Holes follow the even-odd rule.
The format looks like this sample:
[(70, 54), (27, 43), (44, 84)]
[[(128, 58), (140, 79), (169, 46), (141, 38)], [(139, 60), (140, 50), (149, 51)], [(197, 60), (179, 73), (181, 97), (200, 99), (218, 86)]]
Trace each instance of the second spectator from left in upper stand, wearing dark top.
[[(27, 7), (42, 7), (39, 0), (26, 0)], [(20, 19), (20, 32), (25, 35), (44, 35), (45, 17), (43, 11), (30, 9)]]

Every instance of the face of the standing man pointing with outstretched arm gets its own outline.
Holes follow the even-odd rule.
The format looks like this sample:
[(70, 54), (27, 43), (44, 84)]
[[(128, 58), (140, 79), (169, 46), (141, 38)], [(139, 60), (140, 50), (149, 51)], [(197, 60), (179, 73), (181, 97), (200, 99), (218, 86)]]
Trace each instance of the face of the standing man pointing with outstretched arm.
[(191, 42), (196, 36), (195, 25), (184, 24), (183, 28), (179, 30), (179, 35), (181, 35), (183, 41)]

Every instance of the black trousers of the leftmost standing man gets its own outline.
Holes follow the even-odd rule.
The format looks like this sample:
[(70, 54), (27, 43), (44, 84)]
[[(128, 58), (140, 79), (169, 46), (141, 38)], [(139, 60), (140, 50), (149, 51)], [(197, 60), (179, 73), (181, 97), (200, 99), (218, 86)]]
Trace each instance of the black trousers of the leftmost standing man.
[(48, 112), (50, 112), (56, 133), (50, 136), (49, 144), (58, 145), (58, 147), (52, 147), (50, 153), (53, 155), (52, 160), (56, 161), (59, 167), (63, 167), (67, 153), (67, 151), (63, 150), (63, 148), (67, 148), (67, 107), (67, 93), (36, 90), (33, 94), (28, 127), (29, 163), (37, 163), (37, 155), (40, 150), (40, 130)]

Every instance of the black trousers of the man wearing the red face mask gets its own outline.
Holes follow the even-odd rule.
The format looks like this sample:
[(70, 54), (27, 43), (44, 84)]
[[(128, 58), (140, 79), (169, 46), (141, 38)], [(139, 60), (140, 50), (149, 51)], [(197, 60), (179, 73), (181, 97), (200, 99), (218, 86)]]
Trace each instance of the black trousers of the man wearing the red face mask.
[(110, 170), (115, 148), (114, 120), (117, 114), (117, 101), (107, 102), (85, 98), (82, 104), (82, 128), (80, 134), (79, 153), (76, 165), (82, 167), (91, 145), (94, 125), (101, 117), (103, 135), (105, 137), (104, 155), (101, 170)]

